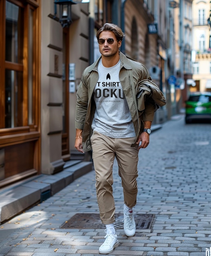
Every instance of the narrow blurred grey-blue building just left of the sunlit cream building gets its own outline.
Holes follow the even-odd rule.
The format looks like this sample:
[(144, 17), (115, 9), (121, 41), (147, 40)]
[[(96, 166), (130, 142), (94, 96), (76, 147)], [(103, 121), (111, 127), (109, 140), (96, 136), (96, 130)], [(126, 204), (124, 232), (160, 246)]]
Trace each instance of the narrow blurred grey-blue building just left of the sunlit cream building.
[(192, 2), (193, 0), (180, 0), (178, 8), (174, 10), (175, 33), (175, 102), (176, 112), (185, 105), (189, 96), (192, 72)]

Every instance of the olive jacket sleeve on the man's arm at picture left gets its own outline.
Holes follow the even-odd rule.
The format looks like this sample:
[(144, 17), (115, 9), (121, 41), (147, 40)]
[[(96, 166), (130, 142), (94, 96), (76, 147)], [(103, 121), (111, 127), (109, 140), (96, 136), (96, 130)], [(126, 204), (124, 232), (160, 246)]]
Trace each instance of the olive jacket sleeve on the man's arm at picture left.
[(75, 117), (75, 127), (76, 129), (84, 128), (84, 121), (87, 114), (87, 106), (88, 106), (88, 87), (85, 83), (84, 73), (82, 74), (82, 79), (80, 81), (80, 85), (78, 87), (76, 96), (76, 117)]

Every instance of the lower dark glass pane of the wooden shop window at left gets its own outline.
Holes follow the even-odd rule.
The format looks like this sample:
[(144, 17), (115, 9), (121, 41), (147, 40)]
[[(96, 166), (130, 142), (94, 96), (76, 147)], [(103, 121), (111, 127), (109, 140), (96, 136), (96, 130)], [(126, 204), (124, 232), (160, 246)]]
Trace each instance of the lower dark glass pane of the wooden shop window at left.
[(22, 72), (5, 70), (5, 128), (22, 126)]

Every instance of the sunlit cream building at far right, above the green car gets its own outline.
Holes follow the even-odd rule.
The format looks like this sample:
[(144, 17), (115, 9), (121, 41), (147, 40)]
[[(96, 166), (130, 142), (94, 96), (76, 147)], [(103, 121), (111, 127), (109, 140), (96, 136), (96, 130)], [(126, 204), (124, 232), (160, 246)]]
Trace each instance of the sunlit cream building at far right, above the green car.
[(211, 2), (193, 0), (193, 80), (191, 91), (211, 91)]

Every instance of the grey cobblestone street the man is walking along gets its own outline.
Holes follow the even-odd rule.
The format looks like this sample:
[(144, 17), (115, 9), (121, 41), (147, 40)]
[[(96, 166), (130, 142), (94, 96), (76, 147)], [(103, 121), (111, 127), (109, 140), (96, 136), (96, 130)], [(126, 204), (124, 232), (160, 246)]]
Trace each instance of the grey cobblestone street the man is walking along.
[[(211, 255), (211, 124), (173, 117), (140, 150), (138, 171), (134, 212), (154, 214), (151, 227), (129, 238), (116, 229), (120, 245), (109, 255)], [(122, 213), (116, 162), (113, 178), (116, 213)], [(99, 255), (104, 229), (61, 229), (76, 213), (98, 213), (94, 171), (1, 225), (0, 256)]]

